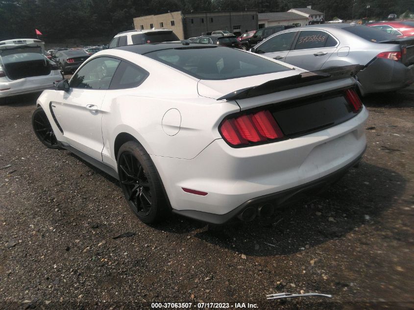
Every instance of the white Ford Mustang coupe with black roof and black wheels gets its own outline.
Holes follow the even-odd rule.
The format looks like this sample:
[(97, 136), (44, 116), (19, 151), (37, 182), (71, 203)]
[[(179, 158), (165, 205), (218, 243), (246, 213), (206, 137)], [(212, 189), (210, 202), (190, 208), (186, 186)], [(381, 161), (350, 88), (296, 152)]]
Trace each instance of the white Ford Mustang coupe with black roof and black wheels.
[(169, 211), (251, 220), (361, 159), (368, 114), (356, 70), (306, 72), (187, 42), (107, 49), (43, 92), (33, 129), (119, 179), (146, 223)]

